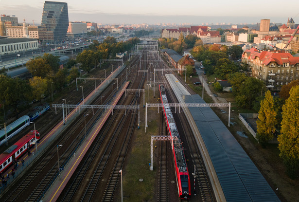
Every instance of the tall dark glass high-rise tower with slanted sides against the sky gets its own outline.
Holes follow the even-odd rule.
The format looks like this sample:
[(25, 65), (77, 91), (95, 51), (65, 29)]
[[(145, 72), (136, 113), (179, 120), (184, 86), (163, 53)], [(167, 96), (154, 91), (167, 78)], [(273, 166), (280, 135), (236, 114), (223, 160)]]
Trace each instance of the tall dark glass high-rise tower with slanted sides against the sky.
[(45, 1), (41, 26), (38, 26), (42, 43), (59, 43), (67, 36), (69, 27), (68, 3)]

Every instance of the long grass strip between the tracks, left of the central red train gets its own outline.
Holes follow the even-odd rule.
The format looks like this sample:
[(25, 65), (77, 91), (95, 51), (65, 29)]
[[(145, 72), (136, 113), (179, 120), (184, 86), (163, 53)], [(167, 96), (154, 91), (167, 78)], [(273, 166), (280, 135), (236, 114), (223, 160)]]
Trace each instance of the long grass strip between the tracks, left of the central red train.
[[(148, 88), (145, 88), (145, 102), (148, 102), (147, 90)], [(157, 97), (153, 97), (153, 90), (153, 88), (150, 89), (150, 103), (158, 103)], [(141, 105), (143, 105), (142, 96)], [(147, 112), (148, 128), (145, 133), (145, 108), (141, 107), (140, 129), (135, 129), (136, 139), (128, 155), (127, 165), (123, 169), (123, 200), (127, 202), (152, 202), (155, 197), (157, 165), (156, 167), (154, 165), (154, 170), (151, 171), (149, 164), (151, 162), (151, 136), (159, 135), (159, 114), (157, 108), (148, 108)], [(139, 179), (143, 179), (143, 182)], [(117, 201), (120, 201), (120, 196), (121, 194), (117, 197)]]

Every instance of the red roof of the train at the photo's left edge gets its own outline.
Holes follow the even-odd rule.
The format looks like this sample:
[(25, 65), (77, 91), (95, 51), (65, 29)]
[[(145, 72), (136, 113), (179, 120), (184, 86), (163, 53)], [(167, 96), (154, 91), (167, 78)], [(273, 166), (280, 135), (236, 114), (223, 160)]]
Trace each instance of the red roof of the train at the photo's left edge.
[[(37, 130), (36, 134), (38, 133)], [(19, 147), (25, 145), (35, 135), (34, 130), (30, 130), (25, 136), (18, 140), (14, 145), (7, 148), (2, 154), (0, 154), (0, 165), (8, 159), (12, 153), (16, 152)]]

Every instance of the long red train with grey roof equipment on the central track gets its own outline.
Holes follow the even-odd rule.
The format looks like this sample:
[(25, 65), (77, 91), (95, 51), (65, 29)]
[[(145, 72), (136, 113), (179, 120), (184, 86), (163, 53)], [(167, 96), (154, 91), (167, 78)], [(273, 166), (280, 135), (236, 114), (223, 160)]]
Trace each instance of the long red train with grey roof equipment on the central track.
[(160, 92), (161, 102), (163, 104), (163, 112), (164, 112), (164, 117), (165, 117), (169, 135), (177, 137), (178, 139), (173, 142), (174, 144), (172, 146), (174, 164), (176, 168), (176, 183), (178, 187), (178, 194), (181, 199), (189, 200), (191, 198), (190, 177), (187, 168), (187, 163), (185, 160), (183, 147), (176, 128), (175, 119), (173, 117), (170, 107), (167, 106), (168, 100), (163, 85), (159, 85), (159, 92)]

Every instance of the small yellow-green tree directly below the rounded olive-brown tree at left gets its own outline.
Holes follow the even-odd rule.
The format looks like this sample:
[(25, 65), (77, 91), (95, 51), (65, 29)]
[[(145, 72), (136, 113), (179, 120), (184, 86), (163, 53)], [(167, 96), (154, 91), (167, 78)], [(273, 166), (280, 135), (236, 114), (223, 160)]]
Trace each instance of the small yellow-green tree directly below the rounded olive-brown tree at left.
[(34, 76), (29, 80), (30, 86), (32, 88), (32, 99), (41, 100), (43, 95), (47, 92), (48, 81), (40, 76)]

